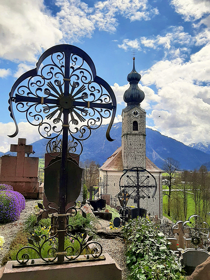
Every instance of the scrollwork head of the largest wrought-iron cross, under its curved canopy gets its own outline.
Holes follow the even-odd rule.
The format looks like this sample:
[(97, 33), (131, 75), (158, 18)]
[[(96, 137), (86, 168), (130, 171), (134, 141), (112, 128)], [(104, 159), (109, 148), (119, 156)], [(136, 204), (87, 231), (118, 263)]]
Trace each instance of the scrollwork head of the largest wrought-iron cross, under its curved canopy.
[(53, 151), (60, 151), (58, 136), (68, 127), (69, 152), (81, 154), (82, 141), (109, 117), (106, 138), (113, 141), (109, 133), (116, 113), (114, 92), (96, 75), (87, 53), (75, 46), (57, 45), (46, 50), (36, 68), (22, 74), (14, 83), (8, 102), (16, 125), (10, 137), (18, 134), (13, 113), (15, 102), (17, 111), (25, 112), (27, 121), (38, 127), (42, 137), (49, 139), (48, 145), (54, 143)]

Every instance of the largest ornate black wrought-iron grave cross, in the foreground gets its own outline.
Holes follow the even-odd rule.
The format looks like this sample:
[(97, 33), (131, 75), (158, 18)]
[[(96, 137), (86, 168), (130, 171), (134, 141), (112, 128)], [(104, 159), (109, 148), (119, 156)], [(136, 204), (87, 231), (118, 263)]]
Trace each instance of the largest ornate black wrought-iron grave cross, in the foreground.
[[(57, 45), (46, 50), (36, 68), (24, 73), (14, 83), (9, 111), (16, 131), (10, 137), (18, 134), (13, 103), (17, 111), (24, 112), (27, 121), (37, 127), (40, 135), (48, 139), (47, 152), (50, 145), (53, 152), (59, 152), (58, 158), (50, 162), (56, 168), (57, 175), (52, 172), (50, 164), (47, 167), (55, 180), (51, 187), (45, 188), (45, 195), (49, 201), (57, 204), (59, 225), (55, 226), (57, 234), (53, 237), (58, 238), (58, 249), (52, 249), (55, 253), (53, 261), (57, 258), (58, 262), (63, 262), (64, 256), (67, 258), (64, 237), (69, 235), (65, 220), (69, 216), (67, 212), (70, 215), (77, 212), (75, 197), (80, 192), (77, 186), (81, 186), (80, 167), (74, 160), (68, 159), (68, 153), (71, 153), (71, 157), (72, 153), (75, 153), (75, 157), (80, 155), (83, 141), (102, 124), (103, 118), (111, 117), (106, 138), (113, 141), (109, 132), (115, 118), (116, 98), (108, 83), (96, 75), (94, 63), (87, 53), (76, 46)], [(62, 136), (62, 140), (59, 136)], [(66, 210), (69, 203), (73, 206)], [(39, 241), (37, 238), (37, 244)], [(50, 243), (48, 239), (45, 242)], [(40, 246), (36, 251), (45, 262), (52, 261), (42, 257)], [(20, 262), (18, 257), (17, 261)]]

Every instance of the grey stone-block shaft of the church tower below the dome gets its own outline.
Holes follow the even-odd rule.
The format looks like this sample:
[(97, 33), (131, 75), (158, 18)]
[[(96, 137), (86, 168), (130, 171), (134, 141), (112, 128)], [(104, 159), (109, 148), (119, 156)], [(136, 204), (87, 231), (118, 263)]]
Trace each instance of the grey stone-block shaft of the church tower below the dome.
[[(134, 166), (146, 167), (146, 112), (140, 112), (137, 118), (132, 115), (133, 109), (124, 113), (122, 121), (122, 160), (124, 169)], [(138, 131), (133, 131), (133, 121), (138, 122)]]

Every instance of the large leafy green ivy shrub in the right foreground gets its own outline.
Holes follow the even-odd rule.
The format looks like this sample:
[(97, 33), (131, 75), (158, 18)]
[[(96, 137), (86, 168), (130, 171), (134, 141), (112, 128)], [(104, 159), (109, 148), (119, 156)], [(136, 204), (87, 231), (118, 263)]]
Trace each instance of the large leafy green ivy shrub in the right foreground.
[(123, 228), (127, 265), (132, 280), (180, 280), (181, 264), (155, 223), (146, 218), (129, 220)]

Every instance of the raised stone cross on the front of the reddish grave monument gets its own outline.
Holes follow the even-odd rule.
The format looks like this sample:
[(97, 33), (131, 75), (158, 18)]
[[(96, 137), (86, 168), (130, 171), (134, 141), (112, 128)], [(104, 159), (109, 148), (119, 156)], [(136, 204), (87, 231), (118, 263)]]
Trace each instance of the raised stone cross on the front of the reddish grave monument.
[(25, 138), (18, 138), (18, 144), (10, 145), (11, 152), (17, 152), (16, 177), (23, 177), (25, 153), (32, 153), (32, 145), (26, 145)]

